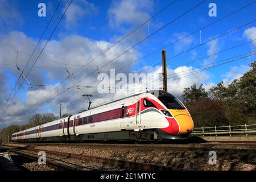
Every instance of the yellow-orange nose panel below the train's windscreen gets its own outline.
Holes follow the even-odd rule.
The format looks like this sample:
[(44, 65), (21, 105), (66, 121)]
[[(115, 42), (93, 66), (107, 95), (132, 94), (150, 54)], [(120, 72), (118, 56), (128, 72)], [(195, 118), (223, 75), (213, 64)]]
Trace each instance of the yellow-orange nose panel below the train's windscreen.
[(176, 121), (179, 123), (180, 132), (179, 135), (189, 135), (192, 133), (194, 123), (189, 115), (180, 114), (175, 116)]

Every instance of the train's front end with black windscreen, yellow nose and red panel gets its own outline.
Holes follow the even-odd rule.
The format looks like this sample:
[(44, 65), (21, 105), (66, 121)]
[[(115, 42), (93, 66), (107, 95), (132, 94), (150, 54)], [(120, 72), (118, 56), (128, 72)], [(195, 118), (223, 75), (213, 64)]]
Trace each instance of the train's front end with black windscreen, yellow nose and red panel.
[(193, 131), (193, 120), (187, 108), (172, 94), (159, 90), (158, 99), (167, 107), (172, 118), (167, 118), (170, 126), (160, 129), (162, 138), (186, 139)]

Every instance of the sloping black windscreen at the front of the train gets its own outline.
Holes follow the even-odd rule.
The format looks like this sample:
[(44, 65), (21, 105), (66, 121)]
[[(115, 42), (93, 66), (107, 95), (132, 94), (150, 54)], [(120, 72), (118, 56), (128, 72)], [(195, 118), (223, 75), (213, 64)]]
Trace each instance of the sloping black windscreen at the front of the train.
[(168, 109), (185, 109), (185, 107), (171, 94), (168, 96), (160, 96), (158, 99), (168, 108)]

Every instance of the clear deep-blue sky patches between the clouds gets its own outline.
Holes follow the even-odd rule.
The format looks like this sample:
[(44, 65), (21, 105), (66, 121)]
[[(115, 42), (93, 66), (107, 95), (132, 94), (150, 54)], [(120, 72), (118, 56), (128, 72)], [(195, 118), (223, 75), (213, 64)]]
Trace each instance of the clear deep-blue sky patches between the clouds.
[[(22, 31), (24, 34), (26, 34), (28, 37), (38, 40), (40, 35), (42, 34), (42, 31), (46, 27), (46, 24), (48, 23), (49, 19), (51, 18), (51, 15), (53, 13), (53, 10), (59, 3), (59, 1), (44, 1), (46, 3), (47, 7), (47, 16), (46, 17), (39, 17), (37, 15), (38, 11), (38, 3), (41, 1), (14, 1), (15, 6), (19, 10), (19, 16), (22, 18), (20, 22), (15, 24), (15, 26), (7, 27), (2, 32), (7, 33), (8, 31)], [(148, 10), (149, 15), (154, 15), (157, 13), (160, 9), (163, 9), (164, 6), (168, 5), (171, 1), (153, 1), (152, 7), (150, 7)], [(157, 16), (150, 22), (150, 32), (154, 32), (156, 30), (155, 27), (151, 27), (151, 23), (155, 23), (156, 26), (161, 26), (162, 24), (166, 24), (170, 22), (170, 20), (174, 19), (175, 17), (179, 16), (182, 12), (189, 9), (189, 7), (195, 6), (200, 1), (177, 1), (174, 3), (173, 6), (165, 10), (162, 14)], [(222, 16), (225, 16), (228, 13), (231, 13), (234, 10), (239, 9), (242, 6), (245, 6), (253, 1), (214, 1), (217, 5), (217, 17), (210, 17), (208, 15), (208, 2), (203, 3), (200, 7), (193, 10), (191, 13), (184, 16), (184, 18), (180, 18), (176, 22), (172, 23), (170, 26), (164, 28), (164, 30), (160, 31), (155, 36), (152, 36), (152, 38), (144, 41), (142, 44), (140, 44), (137, 48), (139, 49), (141, 55), (147, 55), (147, 53), (154, 51), (155, 49), (161, 48), (165, 46), (168, 43), (171, 43), (172, 40), (175, 40), (174, 34), (181, 34), (185, 35), (186, 33), (193, 32), (195, 30), (198, 30), (201, 27), (204, 27), (205, 25), (209, 24), (210, 22), (214, 22), (214, 20), (221, 18)], [(61, 4), (61, 9), (64, 9), (63, 5), (67, 5), (68, 1), (64, 1)], [(80, 1), (74, 1), (74, 3), (77, 3), (77, 5), (81, 5), (82, 3)], [(109, 24), (109, 15), (108, 11), (113, 6), (112, 1), (88, 1), (88, 3), (93, 3), (96, 10), (92, 10), (92, 12), (89, 12), (88, 14), (85, 13), (84, 16), (79, 18), (73, 25), (75, 28), (67, 28), (65, 26), (65, 23), (60, 23), (59, 28), (57, 28), (55, 34), (52, 36), (52, 39), (55, 40), (61, 40), (63, 36), (69, 35), (69, 34), (75, 34), (84, 36), (86, 38), (90, 38), (93, 40), (106, 40), (108, 42), (113, 42), (114, 36), (123, 36), (127, 32), (129, 32), (135, 25), (138, 25), (139, 23), (124, 23), (120, 27), (117, 28), (110, 28)], [(72, 5), (71, 5), (72, 6)], [(62, 14), (62, 11), (57, 11), (57, 14), (55, 18), (53, 18), (53, 22), (51, 23), (51, 27), (49, 27), (49, 31), (46, 33), (46, 36), (44, 38), (47, 38), (47, 35), (49, 35), (49, 32), (52, 30), (53, 26), (55, 26), (57, 22), (57, 18), (60, 18)], [(209, 28), (206, 28), (202, 32), (202, 42), (205, 42), (209, 40), (209, 38), (214, 38), (217, 35), (224, 34), (226, 31), (232, 30), (233, 28), (236, 28), (238, 26), (241, 26), (242, 24), (245, 24), (247, 22), (250, 22), (251, 20), (254, 20), (255, 18), (255, 4), (251, 5), (250, 7), (247, 7), (246, 9), (230, 16), (229, 18), (226, 18), (224, 20), (221, 20), (219, 23), (213, 24)], [(240, 44), (245, 42), (246, 38), (243, 36), (243, 31), (246, 28), (254, 27), (255, 23), (251, 23), (249, 26), (243, 27), (237, 32), (234, 32), (232, 34), (226, 35), (220, 39), (221, 44), (218, 45), (220, 48), (228, 48), (230, 46), (234, 46), (236, 44)], [(144, 27), (145, 30), (147, 30), (147, 26)], [(192, 43), (193, 45), (196, 45), (200, 43), (200, 34), (193, 35)], [(170, 46), (167, 48), (167, 58), (175, 55), (175, 45)], [(208, 47), (202, 46), (195, 51), (197, 51), (197, 57), (200, 57), (200, 55), (205, 55), (203, 53), (207, 52)], [(251, 44), (248, 44), (247, 46), (241, 47), (239, 51), (243, 53), (246, 50), (251, 49)], [(198, 52), (202, 52), (199, 54)], [(237, 49), (234, 49), (229, 52), (230, 54), (238, 53)], [(226, 53), (223, 55), (225, 56)], [(180, 63), (186, 63), (185, 60), (191, 60), (189, 59), (188, 55), (184, 54), (183, 56), (177, 57), (177, 59), (171, 61), (172, 63), (168, 63), (168, 67), (175, 68), (180, 65)], [(220, 57), (221, 58), (221, 57)], [(141, 64), (138, 64), (138, 66), (144, 66), (144, 65), (150, 65), (150, 63), (154, 63), (155, 61), (160, 61), (160, 55), (155, 54), (153, 56), (148, 57), (145, 61), (142, 61)], [(230, 67), (236, 66), (238, 64), (247, 64), (250, 63), (251, 59), (248, 59), (248, 61), (241, 60), (237, 61), (235, 63), (231, 63), (228, 65), (225, 65), (223, 67), (220, 67), (218, 69), (214, 69), (211, 72), (214, 73), (214, 77), (212, 78), (213, 82), (217, 82), (221, 79), (220, 72), (228, 72)], [(194, 64), (195, 66), (199, 63)], [(216, 72), (217, 71), (217, 72)]]

